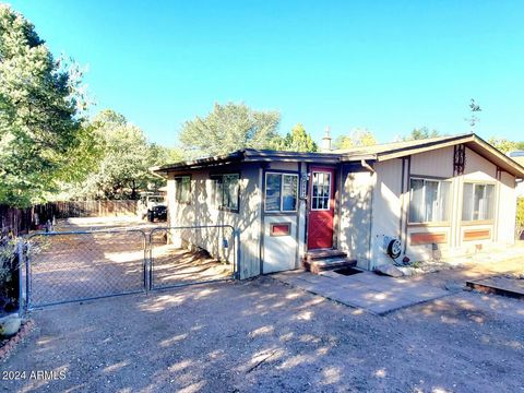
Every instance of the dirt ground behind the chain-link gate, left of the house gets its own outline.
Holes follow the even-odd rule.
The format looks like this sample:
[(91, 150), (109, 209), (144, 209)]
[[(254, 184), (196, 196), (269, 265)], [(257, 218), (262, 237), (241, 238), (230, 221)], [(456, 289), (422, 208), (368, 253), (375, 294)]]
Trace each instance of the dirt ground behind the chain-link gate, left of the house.
[(56, 231), (128, 230), (126, 233), (59, 234), (29, 241), (34, 307), (144, 290), (144, 240), (152, 243), (152, 284), (167, 287), (227, 278), (233, 265), (203, 252), (166, 243), (160, 226), (135, 217), (60, 221)]

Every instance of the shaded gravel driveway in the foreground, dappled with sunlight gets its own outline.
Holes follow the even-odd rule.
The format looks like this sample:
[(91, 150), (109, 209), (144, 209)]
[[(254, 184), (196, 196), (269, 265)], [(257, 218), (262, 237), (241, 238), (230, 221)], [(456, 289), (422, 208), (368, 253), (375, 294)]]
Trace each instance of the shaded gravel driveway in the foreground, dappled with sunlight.
[(522, 392), (524, 303), (475, 293), (376, 317), (271, 277), (67, 305), (1, 364), (5, 391)]

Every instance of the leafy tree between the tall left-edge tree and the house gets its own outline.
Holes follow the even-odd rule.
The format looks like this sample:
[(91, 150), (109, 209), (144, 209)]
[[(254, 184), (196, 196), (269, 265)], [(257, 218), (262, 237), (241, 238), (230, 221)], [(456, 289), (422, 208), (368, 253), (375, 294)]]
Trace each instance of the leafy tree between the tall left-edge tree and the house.
[(165, 164), (169, 152), (147, 142), (142, 130), (122, 115), (104, 110), (85, 128), (92, 142), (90, 163), (84, 168), (88, 175), (69, 188), (71, 196), (136, 199), (140, 190), (163, 183), (150, 168)]

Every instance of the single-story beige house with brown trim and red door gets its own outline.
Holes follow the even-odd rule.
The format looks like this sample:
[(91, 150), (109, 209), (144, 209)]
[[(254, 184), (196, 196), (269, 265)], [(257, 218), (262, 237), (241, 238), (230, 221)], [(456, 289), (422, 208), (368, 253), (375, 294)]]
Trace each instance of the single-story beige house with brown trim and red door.
[[(511, 245), (524, 178), (475, 134), (325, 153), (246, 148), (155, 171), (167, 178), (169, 225), (238, 230), (240, 278), (330, 250), (372, 270)], [(218, 255), (210, 230), (177, 234)]]

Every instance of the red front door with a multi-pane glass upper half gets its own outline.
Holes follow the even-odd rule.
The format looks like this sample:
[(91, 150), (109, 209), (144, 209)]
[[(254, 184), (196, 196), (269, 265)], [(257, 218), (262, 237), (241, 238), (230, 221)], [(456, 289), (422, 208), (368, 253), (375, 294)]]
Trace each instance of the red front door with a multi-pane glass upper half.
[(311, 168), (309, 187), (308, 249), (333, 247), (335, 170)]

